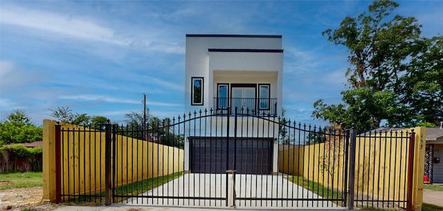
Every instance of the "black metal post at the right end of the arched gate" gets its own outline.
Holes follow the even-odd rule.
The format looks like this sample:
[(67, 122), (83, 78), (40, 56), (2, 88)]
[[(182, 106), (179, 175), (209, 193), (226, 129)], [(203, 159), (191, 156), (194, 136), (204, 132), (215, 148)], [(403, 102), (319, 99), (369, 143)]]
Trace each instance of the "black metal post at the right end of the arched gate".
[(350, 135), (350, 155), (349, 155), (349, 174), (348, 174), (348, 186), (347, 186), (347, 209), (354, 210), (354, 181), (355, 181), (355, 152), (356, 152), (356, 129), (352, 124)]

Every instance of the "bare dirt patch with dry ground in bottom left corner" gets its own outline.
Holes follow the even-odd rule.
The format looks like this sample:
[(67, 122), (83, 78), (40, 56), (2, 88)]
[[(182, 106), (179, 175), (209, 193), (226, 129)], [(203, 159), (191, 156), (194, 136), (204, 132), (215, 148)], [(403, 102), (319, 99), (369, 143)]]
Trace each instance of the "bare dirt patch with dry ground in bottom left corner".
[[(1, 183), (1, 185), (6, 185)], [(54, 210), (59, 205), (42, 203), (43, 187), (23, 187), (0, 190), (0, 210)]]

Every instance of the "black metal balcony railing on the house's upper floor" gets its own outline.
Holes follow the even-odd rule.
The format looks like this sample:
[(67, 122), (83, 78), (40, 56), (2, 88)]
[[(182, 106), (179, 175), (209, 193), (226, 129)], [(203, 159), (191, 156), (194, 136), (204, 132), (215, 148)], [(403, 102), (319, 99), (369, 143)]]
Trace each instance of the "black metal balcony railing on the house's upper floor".
[(277, 116), (277, 98), (214, 98), (217, 113)]

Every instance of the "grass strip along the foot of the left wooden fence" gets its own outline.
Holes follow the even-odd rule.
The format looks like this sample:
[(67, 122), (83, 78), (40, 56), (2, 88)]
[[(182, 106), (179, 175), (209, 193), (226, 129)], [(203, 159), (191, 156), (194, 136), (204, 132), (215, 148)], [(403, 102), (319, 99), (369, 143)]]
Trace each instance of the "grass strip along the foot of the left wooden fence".
[[(115, 200), (114, 203), (121, 202), (128, 199), (126, 196), (137, 196), (138, 194), (143, 194), (148, 190), (155, 187), (161, 186), (168, 183), (175, 178), (181, 176), (183, 172), (176, 172), (174, 174), (169, 174), (166, 176), (159, 176), (154, 178), (147, 178), (143, 181), (136, 181), (134, 183), (129, 183), (126, 185), (121, 185), (115, 190)], [(73, 202), (76, 204), (87, 204), (87, 205), (97, 205), (105, 202), (105, 192), (96, 193), (96, 196), (75, 196), (69, 197), (68, 202)]]

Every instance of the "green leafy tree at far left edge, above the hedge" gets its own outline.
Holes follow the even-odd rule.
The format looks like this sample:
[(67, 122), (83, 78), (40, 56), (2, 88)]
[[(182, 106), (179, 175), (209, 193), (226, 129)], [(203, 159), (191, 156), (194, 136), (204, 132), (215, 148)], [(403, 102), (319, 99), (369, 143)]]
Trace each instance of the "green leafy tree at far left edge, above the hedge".
[(42, 140), (42, 136), (42, 127), (33, 125), (24, 111), (12, 111), (4, 122), (0, 122), (0, 145), (34, 142)]

